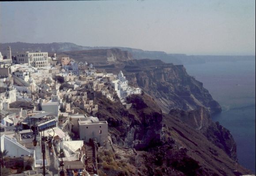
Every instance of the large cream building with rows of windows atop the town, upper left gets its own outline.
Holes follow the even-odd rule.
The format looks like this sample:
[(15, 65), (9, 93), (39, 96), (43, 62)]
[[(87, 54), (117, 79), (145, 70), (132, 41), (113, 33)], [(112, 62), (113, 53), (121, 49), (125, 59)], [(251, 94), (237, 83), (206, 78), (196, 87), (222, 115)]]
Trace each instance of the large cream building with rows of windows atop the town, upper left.
[(48, 52), (18, 52), (16, 61), (18, 64), (31, 65), (32, 67), (46, 67), (48, 66)]

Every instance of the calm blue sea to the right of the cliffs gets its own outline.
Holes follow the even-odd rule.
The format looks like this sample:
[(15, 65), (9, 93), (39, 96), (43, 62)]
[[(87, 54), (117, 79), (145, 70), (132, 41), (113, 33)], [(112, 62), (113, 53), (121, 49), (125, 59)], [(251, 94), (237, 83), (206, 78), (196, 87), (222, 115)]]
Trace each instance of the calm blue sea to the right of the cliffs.
[(207, 62), (184, 67), (221, 105), (222, 113), (212, 119), (230, 130), (237, 143), (238, 162), (255, 172), (255, 60)]

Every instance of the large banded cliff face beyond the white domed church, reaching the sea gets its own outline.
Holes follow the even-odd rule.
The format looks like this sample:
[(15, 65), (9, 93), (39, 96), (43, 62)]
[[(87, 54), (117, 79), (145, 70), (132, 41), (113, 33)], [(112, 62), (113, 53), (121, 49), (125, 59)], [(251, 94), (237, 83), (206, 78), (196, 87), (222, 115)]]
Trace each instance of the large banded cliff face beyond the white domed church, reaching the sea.
[(127, 61), (123, 69), (129, 83), (154, 97), (166, 113), (173, 108), (187, 111), (199, 107), (211, 113), (221, 111), (203, 83), (189, 76), (183, 65), (144, 59)]

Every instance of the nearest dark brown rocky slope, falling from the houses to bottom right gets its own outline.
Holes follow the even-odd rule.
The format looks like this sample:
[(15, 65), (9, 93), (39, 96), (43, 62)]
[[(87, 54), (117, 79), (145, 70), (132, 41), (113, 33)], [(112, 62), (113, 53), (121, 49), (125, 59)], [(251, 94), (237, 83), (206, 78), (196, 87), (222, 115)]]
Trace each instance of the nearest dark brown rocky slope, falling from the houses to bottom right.
[[(102, 173), (122, 175), (122, 163), (126, 163), (125, 168), (129, 166), (125, 172), (131, 176), (235, 176), (235, 173), (250, 173), (200, 132), (207, 129), (207, 125), (196, 130), (179, 117), (162, 113), (157, 103), (146, 94), (131, 96), (128, 103), (132, 103), (132, 107), (127, 110), (120, 102), (113, 103), (97, 95), (97, 116), (100, 120), (107, 120), (110, 136), (118, 148), (114, 159), (99, 161)], [(210, 123), (208, 119), (205, 121)], [(199, 127), (198, 124), (195, 123), (194, 127)], [(120, 147), (136, 151), (127, 152), (127, 148)]]

